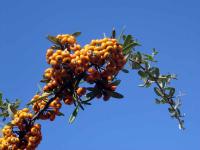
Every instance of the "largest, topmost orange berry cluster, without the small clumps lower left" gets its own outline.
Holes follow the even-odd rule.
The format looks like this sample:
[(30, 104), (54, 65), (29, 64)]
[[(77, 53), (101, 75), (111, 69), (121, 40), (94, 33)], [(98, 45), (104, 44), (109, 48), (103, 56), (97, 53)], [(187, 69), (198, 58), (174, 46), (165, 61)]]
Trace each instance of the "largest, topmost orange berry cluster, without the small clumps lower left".
[[(47, 50), (46, 59), (51, 67), (44, 73), (44, 78), (48, 81), (43, 88), (45, 92), (55, 90), (68, 82), (68, 87), (75, 88), (73, 90), (81, 96), (86, 93), (86, 89), (73, 87), (69, 83), (81, 75), (83, 75), (84, 81), (90, 84), (95, 83), (96, 87), (115, 90), (116, 87), (111, 87), (110, 82), (126, 63), (122, 46), (116, 39), (92, 40), (81, 48), (73, 36), (58, 35), (57, 38), (63, 44), (62, 48), (64, 49), (53, 46)], [(101, 85), (99, 85), (100, 81), (102, 81)], [(103, 83), (104, 85), (102, 85)], [(63, 101), (66, 104), (73, 102), (72, 93), (72, 90), (65, 92)], [(109, 96), (105, 97), (108, 99)]]

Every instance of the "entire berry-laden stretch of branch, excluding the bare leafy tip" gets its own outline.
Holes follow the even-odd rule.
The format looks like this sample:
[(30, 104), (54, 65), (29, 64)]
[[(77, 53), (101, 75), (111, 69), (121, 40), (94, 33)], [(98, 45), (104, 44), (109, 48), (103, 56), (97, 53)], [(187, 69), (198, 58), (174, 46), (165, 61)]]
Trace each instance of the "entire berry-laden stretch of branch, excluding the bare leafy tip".
[[(116, 90), (113, 81), (126, 63), (123, 47), (116, 39), (92, 40), (81, 47), (75, 36), (62, 34), (54, 37), (53, 42), (55, 45), (46, 52), (50, 67), (43, 75), (43, 92), (32, 99), (33, 114), (28, 108), (14, 114), (11, 125), (3, 128), (3, 137), (0, 138), (2, 150), (35, 149), (42, 139), (40, 125), (34, 124), (35, 120), (53, 121), (59, 116), (62, 103), (83, 108), (82, 97), (91, 88), (98, 91), (92, 99), (103, 96), (104, 100), (108, 100)], [(80, 86), (82, 81), (84, 86), (86, 83), (90, 85), (90, 90)]]

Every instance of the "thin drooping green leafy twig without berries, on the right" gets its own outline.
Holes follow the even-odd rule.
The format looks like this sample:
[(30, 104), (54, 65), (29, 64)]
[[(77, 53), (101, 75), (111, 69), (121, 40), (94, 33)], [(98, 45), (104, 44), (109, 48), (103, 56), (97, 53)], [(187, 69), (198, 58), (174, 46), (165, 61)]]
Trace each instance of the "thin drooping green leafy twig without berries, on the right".
[(180, 99), (174, 100), (175, 88), (171, 87), (170, 81), (176, 79), (176, 76), (173, 74), (161, 75), (160, 69), (157, 67), (151, 67), (151, 62), (156, 62), (154, 56), (158, 52), (153, 50), (151, 55), (141, 54), (140, 52), (132, 51), (129, 53), (128, 59), (131, 62), (132, 69), (138, 71), (139, 76), (144, 81), (144, 84), (140, 85), (142, 87), (150, 87), (152, 83), (155, 83), (157, 87), (154, 87), (154, 91), (159, 99), (156, 98), (157, 104), (169, 104), (169, 113), (171, 117), (176, 118), (179, 123), (180, 129), (184, 128), (184, 115), (181, 114)]

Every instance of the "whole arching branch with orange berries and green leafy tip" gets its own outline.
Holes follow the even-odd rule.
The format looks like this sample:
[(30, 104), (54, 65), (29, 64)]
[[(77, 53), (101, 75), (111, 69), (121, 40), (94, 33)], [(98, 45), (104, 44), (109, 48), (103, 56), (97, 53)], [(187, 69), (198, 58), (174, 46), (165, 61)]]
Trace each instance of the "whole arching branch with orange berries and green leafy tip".
[[(183, 128), (179, 103), (173, 100), (175, 88), (168, 86), (172, 76), (160, 75), (158, 68), (150, 67), (149, 62), (154, 61), (155, 51), (153, 56), (135, 53), (138, 42), (131, 35), (123, 35), (123, 32), (117, 40), (115, 30), (110, 38), (92, 40), (84, 47), (77, 43), (76, 37), (79, 35), (80, 32), (48, 36), (53, 43), (46, 53), (50, 67), (45, 70), (41, 80), (45, 84), (43, 90), (28, 103), (33, 111), (28, 108), (18, 110), (18, 101), (4, 102), (0, 95), (1, 116), (4, 119), (11, 117), (11, 122), (2, 129), (0, 149), (35, 149), (42, 139), (41, 126), (35, 123), (36, 120), (53, 121), (56, 116), (63, 115), (60, 112), (63, 103), (74, 104), (69, 118), (69, 123), (72, 123), (79, 108), (84, 110), (84, 106), (91, 105), (95, 98), (102, 97), (104, 101), (111, 97), (123, 98), (116, 92), (121, 82), (117, 76), (120, 71), (129, 72), (124, 68), (127, 62), (131, 63), (132, 69), (138, 70), (145, 87), (157, 84), (155, 92), (162, 98), (156, 99), (157, 103), (170, 104), (170, 113)], [(123, 38), (122, 44), (120, 38)], [(82, 82), (84, 86), (81, 86)]]

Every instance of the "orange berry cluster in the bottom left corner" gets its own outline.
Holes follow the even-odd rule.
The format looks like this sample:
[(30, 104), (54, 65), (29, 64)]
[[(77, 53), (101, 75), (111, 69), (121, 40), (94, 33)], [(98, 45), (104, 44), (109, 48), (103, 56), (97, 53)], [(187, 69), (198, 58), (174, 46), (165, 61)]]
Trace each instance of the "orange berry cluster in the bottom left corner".
[(34, 150), (42, 139), (39, 124), (30, 124), (33, 114), (28, 108), (18, 110), (10, 125), (2, 129), (3, 137), (0, 138), (1, 150)]

